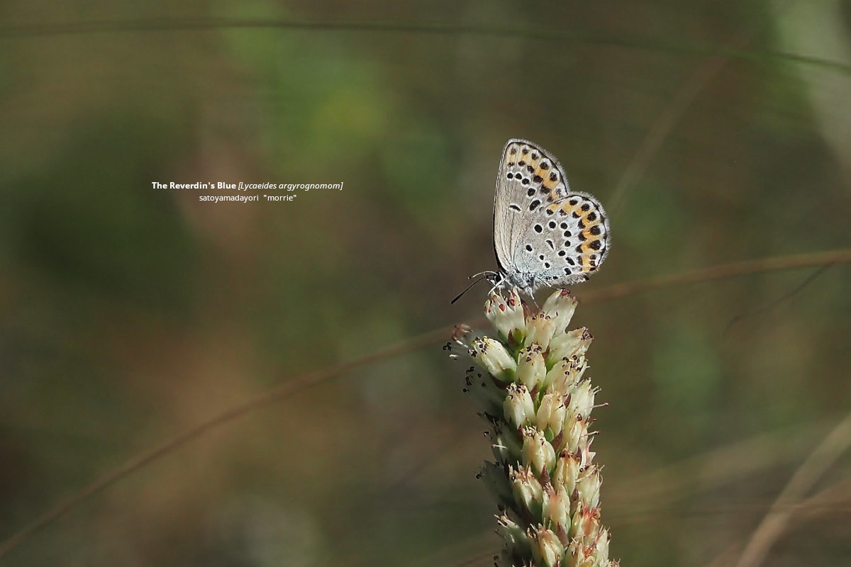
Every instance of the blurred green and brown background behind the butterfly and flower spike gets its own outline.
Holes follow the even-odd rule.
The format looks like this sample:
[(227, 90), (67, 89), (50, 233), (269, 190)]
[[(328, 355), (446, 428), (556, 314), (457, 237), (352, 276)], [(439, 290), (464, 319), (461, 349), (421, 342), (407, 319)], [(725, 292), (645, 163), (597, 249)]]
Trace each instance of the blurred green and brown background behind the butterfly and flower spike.
[[(506, 139), (608, 208), (580, 299), (851, 246), (848, 1), (9, 0), (0, 19), (0, 539), (269, 388), (476, 321), (487, 286), (448, 300), (494, 268)], [(344, 189), (210, 203), (227, 192), (154, 181)], [(580, 306), (614, 558), (735, 564), (848, 414), (849, 286), (837, 264)], [(168, 451), (0, 565), (490, 565), (484, 427), (444, 341)], [(766, 564), (848, 564), (845, 437)]]

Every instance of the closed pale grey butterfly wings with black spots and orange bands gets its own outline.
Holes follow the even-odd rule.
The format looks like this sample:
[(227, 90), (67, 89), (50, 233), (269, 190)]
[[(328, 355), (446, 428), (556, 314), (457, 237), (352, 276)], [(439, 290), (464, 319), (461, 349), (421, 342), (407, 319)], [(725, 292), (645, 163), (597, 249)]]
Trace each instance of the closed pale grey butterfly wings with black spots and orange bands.
[[(571, 191), (562, 166), (523, 139), (505, 145), (494, 196), (494, 252), (515, 285), (585, 281), (608, 255), (608, 217), (591, 195)], [(512, 277), (514, 276), (514, 277)]]

